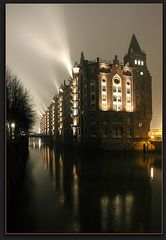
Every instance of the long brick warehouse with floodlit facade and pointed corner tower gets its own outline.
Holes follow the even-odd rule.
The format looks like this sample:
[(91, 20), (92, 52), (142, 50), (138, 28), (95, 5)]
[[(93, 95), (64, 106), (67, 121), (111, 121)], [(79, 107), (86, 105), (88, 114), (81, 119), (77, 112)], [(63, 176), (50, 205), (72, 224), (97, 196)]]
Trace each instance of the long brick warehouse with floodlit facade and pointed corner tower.
[(146, 54), (134, 34), (124, 64), (117, 55), (113, 62), (88, 61), (81, 53), (68, 84), (61, 85), (42, 116), (41, 133), (62, 143), (108, 150), (137, 148), (150, 131), (151, 88)]

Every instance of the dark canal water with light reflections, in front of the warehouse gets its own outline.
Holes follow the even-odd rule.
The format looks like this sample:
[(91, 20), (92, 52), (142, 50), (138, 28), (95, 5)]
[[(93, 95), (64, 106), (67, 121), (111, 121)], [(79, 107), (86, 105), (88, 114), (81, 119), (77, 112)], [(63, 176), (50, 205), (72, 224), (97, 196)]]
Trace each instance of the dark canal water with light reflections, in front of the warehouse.
[(7, 232), (160, 233), (160, 155), (79, 153), (30, 139)]

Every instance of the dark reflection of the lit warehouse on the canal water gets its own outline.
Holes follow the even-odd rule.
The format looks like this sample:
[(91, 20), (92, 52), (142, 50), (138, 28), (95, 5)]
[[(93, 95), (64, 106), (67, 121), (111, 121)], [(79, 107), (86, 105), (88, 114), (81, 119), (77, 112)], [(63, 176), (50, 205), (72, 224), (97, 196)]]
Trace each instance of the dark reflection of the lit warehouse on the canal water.
[(40, 151), (59, 206), (70, 211), (70, 232), (161, 232), (159, 156), (92, 156), (39, 139), (30, 147)]

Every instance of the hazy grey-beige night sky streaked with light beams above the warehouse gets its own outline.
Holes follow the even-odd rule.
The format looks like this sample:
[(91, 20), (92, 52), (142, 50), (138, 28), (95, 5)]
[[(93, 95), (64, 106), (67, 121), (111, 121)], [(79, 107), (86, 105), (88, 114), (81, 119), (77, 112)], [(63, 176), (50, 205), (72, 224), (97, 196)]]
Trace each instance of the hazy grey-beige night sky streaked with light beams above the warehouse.
[(30, 89), (40, 118), (81, 51), (123, 62), (133, 33), (152, 76), (151, 128), (160, 128), (162, 4), (6, 4), (6, 64)]

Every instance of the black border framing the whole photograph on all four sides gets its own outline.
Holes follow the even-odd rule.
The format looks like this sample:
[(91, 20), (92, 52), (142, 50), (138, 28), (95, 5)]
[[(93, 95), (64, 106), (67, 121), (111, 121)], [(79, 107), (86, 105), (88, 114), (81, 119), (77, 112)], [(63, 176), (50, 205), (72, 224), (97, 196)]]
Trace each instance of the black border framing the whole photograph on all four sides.
[[(61, 234), (61, 235), (47, 235), (47, 234), (40, 234), (40, 235), (26, 235), (26, 234), (20, 234), (20, 235), (7, 235), (5, 234), (5, 155), (6, 155), (6, 144), (5, 144), (5, 5), (6, 4), (15, 4), (15, 3), (161, 3), (163, 4), (163, 234), (156, 235), (156, 234), (142, 234), (142, 235), (100, 235), (100, 234)], [(166, 209), (165, 209), (165, 195), (166, 195), (166, 164), (164, 161), (166, 161), (165, 158), (165, 151), (166, 151), (166, 139), (165, 139), (165, 133), (166, 133), (166, 79), (165, 79), (165, 63), (166, 63), (166, 53), (165, 53), (165, 41), (166, 41), (166, 3), (165, 1), (161, 0), (151, 0), (151, 1), (134, 1), (134, 0), (84, 0), (84, 1), (70, 1), (70, 0), (29, 0), (29, 1), (21, 1), (21, 0), (8, 0), (8, 1), (1, 1), (0, 2), (0, 239), (2, 240), (17, 240), (17, 239), (31, 239), (31, 240), (40, 240), (40, 239), (67, 239), (67, 238), (76, 238), (76, 239), (166, 239), (166, 229), (165, 229), (165, 216), (166, 216)], [(152, 26), (153, 27), (153, 26)]]

